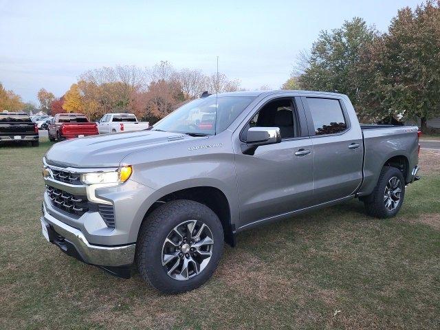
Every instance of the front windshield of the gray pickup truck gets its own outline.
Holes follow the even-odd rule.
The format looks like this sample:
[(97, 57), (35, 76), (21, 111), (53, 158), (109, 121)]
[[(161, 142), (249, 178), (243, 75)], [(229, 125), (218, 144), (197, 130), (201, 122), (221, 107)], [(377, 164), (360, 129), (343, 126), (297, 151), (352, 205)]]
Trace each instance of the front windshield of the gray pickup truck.
[(221, 133), (254, 97), (199, 98), (184, 104), (153, 126), (153, 131), (214, 135)]

